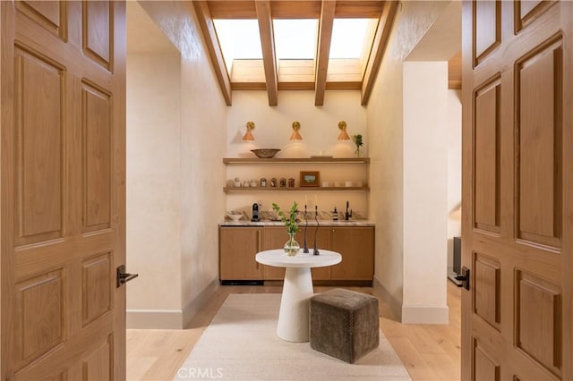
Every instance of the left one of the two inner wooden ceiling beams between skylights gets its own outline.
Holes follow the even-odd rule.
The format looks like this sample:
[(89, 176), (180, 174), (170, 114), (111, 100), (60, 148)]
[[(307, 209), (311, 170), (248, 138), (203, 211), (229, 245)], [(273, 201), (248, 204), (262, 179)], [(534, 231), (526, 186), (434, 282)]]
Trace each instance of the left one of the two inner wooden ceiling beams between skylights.
[(270, 0), (256, 1), (257, 19), (261, 33), (262, 61), (265, 68), (269, 106), (278, 105), (277, 59), (275, 58), (275, 38), (270, 14)]

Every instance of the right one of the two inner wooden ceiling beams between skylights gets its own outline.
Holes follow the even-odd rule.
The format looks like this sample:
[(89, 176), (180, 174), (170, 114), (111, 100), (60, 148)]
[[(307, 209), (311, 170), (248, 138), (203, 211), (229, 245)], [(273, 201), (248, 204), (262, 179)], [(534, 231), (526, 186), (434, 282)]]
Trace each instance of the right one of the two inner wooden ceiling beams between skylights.
[(322, 2), (321, 21), (319, 26), (319, 47), (316, 54), (316, 74), (314, 76), (315, 92), (314, 106), (324, 105), (324, 92), (326, 90), (326, 74), (329, 71), (330, 39), (332, 37), (332, 24), (336, 1)]

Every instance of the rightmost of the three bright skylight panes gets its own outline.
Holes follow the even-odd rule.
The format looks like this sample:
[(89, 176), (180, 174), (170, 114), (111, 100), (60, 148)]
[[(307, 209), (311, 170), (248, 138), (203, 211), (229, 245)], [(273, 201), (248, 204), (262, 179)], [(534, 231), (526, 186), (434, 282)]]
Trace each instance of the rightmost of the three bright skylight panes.
[(372, 26), (375, 28), (376, 22), (374, 19), (334, 19), (329, 58), (360, 58), (364, 47), (372, 47)]

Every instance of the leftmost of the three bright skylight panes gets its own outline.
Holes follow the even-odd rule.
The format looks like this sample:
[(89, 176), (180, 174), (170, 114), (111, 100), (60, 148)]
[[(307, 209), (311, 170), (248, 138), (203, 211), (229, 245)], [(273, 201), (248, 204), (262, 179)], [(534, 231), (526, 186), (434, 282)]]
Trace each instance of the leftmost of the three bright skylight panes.
[(258, 21), (213, 20), (213, 23), (229, 74), (233, 67), (233, 60), (262, 59)]

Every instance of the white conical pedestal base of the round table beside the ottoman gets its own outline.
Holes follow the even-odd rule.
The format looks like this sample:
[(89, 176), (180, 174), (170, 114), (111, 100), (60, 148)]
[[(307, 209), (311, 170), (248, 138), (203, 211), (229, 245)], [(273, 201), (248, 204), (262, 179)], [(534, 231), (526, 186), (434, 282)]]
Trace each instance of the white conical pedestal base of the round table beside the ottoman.
[(287, 342), (308, 342), (309, 307), (313, 294), (311, 269), (286, 267), (278, 313), (278, 337)]

